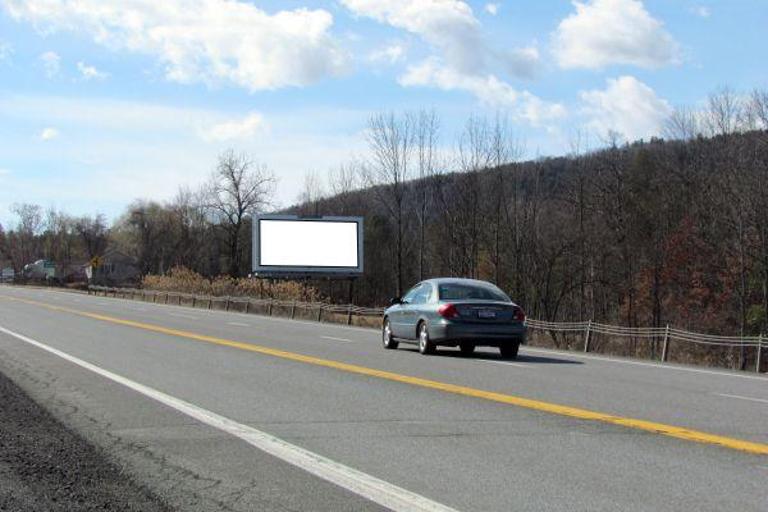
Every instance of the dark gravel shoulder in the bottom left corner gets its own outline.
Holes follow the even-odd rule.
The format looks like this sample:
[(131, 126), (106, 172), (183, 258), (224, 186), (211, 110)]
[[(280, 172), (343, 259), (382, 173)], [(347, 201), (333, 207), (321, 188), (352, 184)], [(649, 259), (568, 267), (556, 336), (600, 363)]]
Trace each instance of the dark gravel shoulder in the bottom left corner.
[(0, 404), (0, 510), (171, 510), (2, 373)]

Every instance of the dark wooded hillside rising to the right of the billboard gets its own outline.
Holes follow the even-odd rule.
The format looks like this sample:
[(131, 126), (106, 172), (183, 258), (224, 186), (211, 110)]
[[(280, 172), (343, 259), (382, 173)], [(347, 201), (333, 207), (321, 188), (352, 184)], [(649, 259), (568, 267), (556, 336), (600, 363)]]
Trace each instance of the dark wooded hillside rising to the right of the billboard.
[(765, 329), (768, 132), (388, 176), (291, 210), (365, 216), (360, 302), (384, 303), (398, 280), (466, 276), (535, 318)]

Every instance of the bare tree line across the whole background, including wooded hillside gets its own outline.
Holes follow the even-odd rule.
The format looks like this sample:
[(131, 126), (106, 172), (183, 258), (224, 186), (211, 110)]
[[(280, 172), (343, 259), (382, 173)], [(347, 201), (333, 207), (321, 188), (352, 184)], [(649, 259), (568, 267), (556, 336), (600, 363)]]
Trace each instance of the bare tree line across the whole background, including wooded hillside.
[[(285, 213), (365, 217), (355, 302), (381, 305), (432, 276), (495, 282), (529, 316), (722, 334), (768, 323), (768, 91), (723, 88), (680, 108), (663, 138), (521, 161), (503, 115), (473, 116), (447, 144), (434, 111), (373, 115), (369, 151), (309, 173)], [(450, 146), (450, 147), (449, 147)], [(145, 274), (250, 270), (250, 216), (273, 210), (275, 175), (219, 157), (208, 183), (168, 202), (138, 200), (112, 225), (16, 205), (0, 258), (87, 258), (107, 244)], [(314, 283), (346, 300), (339, 284)]]

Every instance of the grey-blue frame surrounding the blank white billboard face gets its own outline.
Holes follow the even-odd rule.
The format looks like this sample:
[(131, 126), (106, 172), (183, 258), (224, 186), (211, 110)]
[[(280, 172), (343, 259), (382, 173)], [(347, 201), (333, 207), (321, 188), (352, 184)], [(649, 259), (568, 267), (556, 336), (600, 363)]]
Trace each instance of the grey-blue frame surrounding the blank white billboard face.
[[(356, 267), (313, 267), (291, 265), (262, 265), (261, 264), (261, 221), (298, 221), (298, 222), (344, 222), (357, 224), (357, 266)], [(340, 279), (353, 279), (363, 275), (364, 250), (363, 250), (363, 217), (336, 216), (336, 215), (255, 215), (252, 217), (252, 253), (251, 270), (254, 277), (270, 279), (279, 278), (313, 278), (327, 277)]]

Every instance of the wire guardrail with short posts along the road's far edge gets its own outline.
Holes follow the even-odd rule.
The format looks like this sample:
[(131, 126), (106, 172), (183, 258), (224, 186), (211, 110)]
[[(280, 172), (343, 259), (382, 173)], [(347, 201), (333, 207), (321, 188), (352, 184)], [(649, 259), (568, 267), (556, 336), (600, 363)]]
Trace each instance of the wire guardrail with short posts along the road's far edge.
[[(301, 302), (296, 300), (279, 300), (272, 298), (231, 297), (217, 295), (197, 295), (192, 293), (144, 290), (137, 288), (111, 288), (106, 286), (89, 286), (88, 293), (104, 296), (121, 297), (126, 299), (141, 298), (143, 301), (151, 301), (163, 304), (186, 304), (192, 307), (204, 307), (213, 309), (214, 304), (219, 304), (219, 309), (230, 311), (233, 307), (239, 308), (244, 313), (258, 313), (259, 310), (272, 316), (278, 308), (290, 311), (290, 318), (296, 318), (298, 312), (307, 314), (318, 322), (324, 319), (330, 320), (329, 315), (341, 316), (347, 325), (352, 325), (353, 318), (373, 317), (378, 318), (384, 314), (384, 308), (365, 308), (354, 304), (328, 304), (325, 302)], [(338, 318), (337, 318), (338, 319)], [(672, 341), (692, 343), (696, 345), (708, 345), (725, 347), (730, 349), (754, 349), (755, 371), (762, 368), (763, 349), (768, 348), (768, 336), (718, 336), (701, 334), (696, 332), (666, 327), (622, 327), (617, 325), (602, 324), (588, 320), (586, 322), (546, 322), (542, 320), (527, 319), (529, 329), (547, 333), (573, 333), (582, 336), (583, 351), (590, 352), (594, 335), (602, 334), (611, 337), (645, 339), (661, 341), (660, 360), (666, 362), (669, 358), (670, 344)]]

